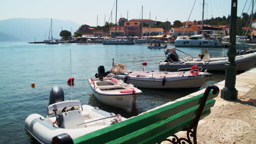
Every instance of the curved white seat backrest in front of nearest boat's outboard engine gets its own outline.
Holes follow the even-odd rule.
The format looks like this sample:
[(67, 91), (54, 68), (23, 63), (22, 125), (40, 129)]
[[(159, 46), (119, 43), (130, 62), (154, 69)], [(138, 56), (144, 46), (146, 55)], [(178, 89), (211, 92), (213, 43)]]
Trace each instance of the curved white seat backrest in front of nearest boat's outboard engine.
[[(61, 101), (59, 103), (51, 104), (48, 106), (48, 115), (53, 115), (54, 111), (57, 110), (56, 113), (62, 113), (62, 110), (64, 107), (69, 105), (79, 105), (80, 111), (82, 111), (82, 105), (79, 100), (67, 100), (67, 101)], [(67, 107), (67, 110), (71, 109), (72, 107)], [(75, 109), (78, 109), (78, 106), (74, 106)]]

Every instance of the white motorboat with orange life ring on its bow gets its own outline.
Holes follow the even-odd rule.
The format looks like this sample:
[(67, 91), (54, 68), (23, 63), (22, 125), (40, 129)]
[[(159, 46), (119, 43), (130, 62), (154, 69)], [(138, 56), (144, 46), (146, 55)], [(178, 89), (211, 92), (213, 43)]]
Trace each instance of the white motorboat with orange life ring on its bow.
[(199, 88), (211, 76), (210, 73), (201, 71), (197, 66), (191, 70), (177, 72), (133, 71), (126, 70), (124, 64), (114, 63), (109, 72), (109, 77), (124, 80), (126, 83), (132, 83), (135, 87), (141, 88)]

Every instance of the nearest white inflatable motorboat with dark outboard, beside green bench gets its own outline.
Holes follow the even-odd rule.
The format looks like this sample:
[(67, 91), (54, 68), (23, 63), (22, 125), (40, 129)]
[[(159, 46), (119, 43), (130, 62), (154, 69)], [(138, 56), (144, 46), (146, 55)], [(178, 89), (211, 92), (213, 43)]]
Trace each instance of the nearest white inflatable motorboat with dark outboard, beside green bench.
[(43, 117), (34, 113), (25, 120), (25, 130), (40, 143), (51, 143), (55, 137), (65, 134), (74, 140), (126, 119), (98, 107), (81, 105), (79, 100), (62, 101), (63, 94), (62, 88), (54, 87), (50, 95), (48, 115)]

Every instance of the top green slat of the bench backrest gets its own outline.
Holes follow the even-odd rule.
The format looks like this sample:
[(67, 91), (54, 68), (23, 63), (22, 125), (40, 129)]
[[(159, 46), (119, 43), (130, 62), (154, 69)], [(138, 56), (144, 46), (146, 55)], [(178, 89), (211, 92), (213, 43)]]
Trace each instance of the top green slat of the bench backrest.
[[(212, 94), (212, 92), (213, 91), (210, 92), (208, 100), (217, 97), (218, 94)], [(179, 112), (187, 110), (188, 107), (199, 105), (202, 96), (203, 94), (200, 94), (196, 97), (178, 101), (177, 103), (161, 107), (154, 111), (144, 113), (143, 115), (127, 119), (124, 122), (117, 123), (111, 125), (110, 127), (103, 128), (90, 134), (78, 137), (73, 141), (74, 143), (106, 143), (109, 141), (113, 141), (115, 139), (118, 139), (119, 137), (123, 137), (130, 133), (133, 133), (134, 131), (147, 127), (148, 125), (154, 124), (158, 121), (162, 121), (163, 119), (176, 115)]]

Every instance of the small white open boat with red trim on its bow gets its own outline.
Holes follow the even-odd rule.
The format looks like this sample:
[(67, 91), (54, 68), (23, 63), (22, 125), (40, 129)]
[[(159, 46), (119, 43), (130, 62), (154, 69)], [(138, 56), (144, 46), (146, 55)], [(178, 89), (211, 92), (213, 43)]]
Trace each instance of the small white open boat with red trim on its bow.
[(136, 97), (142, 93), (133, 85), (127, 85), (121, 80), (111, 77), (88, 79), (95, 97), (101, 103), (120, 107), (127, 112), (132, 112), (136, 107)]

